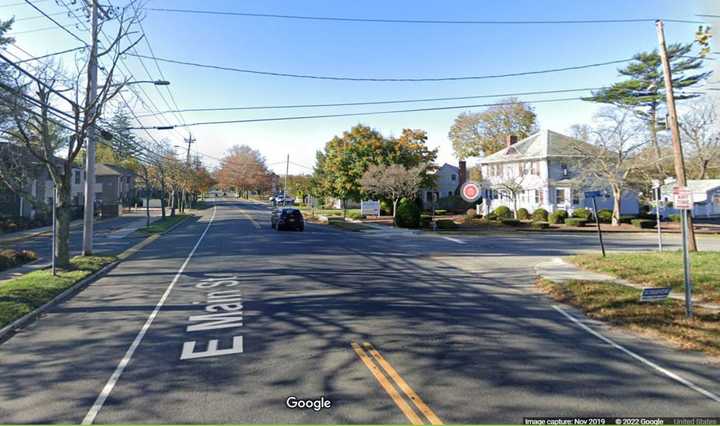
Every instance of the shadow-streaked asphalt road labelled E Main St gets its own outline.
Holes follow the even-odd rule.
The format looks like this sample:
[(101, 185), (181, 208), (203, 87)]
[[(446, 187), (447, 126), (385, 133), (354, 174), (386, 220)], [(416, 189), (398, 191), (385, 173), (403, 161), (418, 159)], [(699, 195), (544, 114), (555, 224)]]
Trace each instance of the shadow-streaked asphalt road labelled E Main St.
[(533, 290), (535, 264), (594, 238), (277, 232), (222, 202), (0, 345), (0, 423), (720, 415), (717, 364)]

